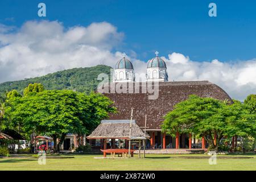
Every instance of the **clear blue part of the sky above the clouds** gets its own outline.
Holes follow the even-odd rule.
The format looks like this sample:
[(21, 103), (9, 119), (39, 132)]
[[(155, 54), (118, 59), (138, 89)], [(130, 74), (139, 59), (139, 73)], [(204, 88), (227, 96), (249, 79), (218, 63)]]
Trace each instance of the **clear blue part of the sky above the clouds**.
[[(38, 3), (47, 17), (37, 15)], [(217, 17), (208, 16), (210, 2)], [(155, 50), (189, 55), (193, 60), (255, 58), (255, 1), (1, 1), (0, 23), (21, 26), (27, 20), (59, 20), (65, 27), (106, 21), (125, 34), (118, 51), (133, 50), (148, 60)]]

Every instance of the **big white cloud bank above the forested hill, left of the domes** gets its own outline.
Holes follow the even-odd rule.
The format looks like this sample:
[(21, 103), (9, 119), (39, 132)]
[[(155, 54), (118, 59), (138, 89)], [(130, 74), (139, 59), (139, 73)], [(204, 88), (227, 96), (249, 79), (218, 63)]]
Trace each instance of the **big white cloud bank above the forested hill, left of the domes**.
[[(114, 64), (111, 52), (123, 34), (107, 22), (65, 28), (57, 21), (29, 21), (0, 32), (0, 82), (97, 64)], [(1, 28), (1, 27), (0, 27)]]

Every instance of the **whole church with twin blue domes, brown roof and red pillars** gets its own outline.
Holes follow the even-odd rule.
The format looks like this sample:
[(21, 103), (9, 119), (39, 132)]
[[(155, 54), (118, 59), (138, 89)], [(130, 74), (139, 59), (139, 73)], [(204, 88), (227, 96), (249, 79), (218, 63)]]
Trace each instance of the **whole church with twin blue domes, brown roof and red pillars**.
[[(160, 127), (164, 120), (163, 117), (173, 110), (177, 103), (187, 100), (191, 94), (232, 101), (228, 94), (209, 81), (168, 81), (166, 63), (158, 56), (158, 52), (156, 52), (156, 57), (148, 61), (145, 72), (146, 84), (158, 82), (158, 98), (155, 100), (148, 99), (150, 95), (148, 92), (104, 93), (114, 102), (114, 106), (118, 110), (118, 113), (110, 114), (109, 119), (130, 119), (131, 107), (134, 107), (133, 119), (142, 129), (145, 115), (147, 115), (146, 131), (150, 135), (150, 140), (147, 143), (148, 148), (206, 148), (205, 139), (196, 139), (191, 133), (176, 133), (176, 137), (163, 133)], [(145, 84), (135, 82), (133, 64), (125, 57), (125, 53), (123, 53), (123, 58), (115, 64), (113, 82), (112, 84), (118, 84), (118, 82), (126, 82), (127, 85), (129, 82), (133, 85), (139, 84), (140, 90)]]

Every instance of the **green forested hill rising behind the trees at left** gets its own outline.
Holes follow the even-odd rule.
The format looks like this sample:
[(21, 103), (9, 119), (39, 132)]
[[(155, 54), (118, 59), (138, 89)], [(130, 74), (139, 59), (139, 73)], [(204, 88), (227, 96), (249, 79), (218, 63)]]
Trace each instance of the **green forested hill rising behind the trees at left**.
[(50, 73), (46, 76), (26, 78), (19, 81), (8, 81), (0, 84), (0, 93), (10, 91), (13, 89), (18, 90), (19, 93), (30, 83), (41, 83), (45, 89), (71, 89), (79, 92), (90, 92), (97, 89), (100, 81), (97, 77), (100, 73), (106, 73), (110, 76), (111, 67), (106, 65), (97, 65), (96, 67), (88, 68), (73, 68)]

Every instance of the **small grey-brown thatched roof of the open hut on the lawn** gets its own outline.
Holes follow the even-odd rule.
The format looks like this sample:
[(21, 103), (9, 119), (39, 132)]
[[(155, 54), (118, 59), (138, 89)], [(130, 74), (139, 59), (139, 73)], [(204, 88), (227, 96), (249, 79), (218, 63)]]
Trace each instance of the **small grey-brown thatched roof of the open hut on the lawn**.
[[(130, 120), (102, 120), (100, 125), (90, 134), (88, 139), (129, 139), (130, 134)], [(145, 139), (144, 132), (136, 124), (135, 120), (131, 123), (131, 138)], [(150, 138), (146, 134), (146, 138)]]

